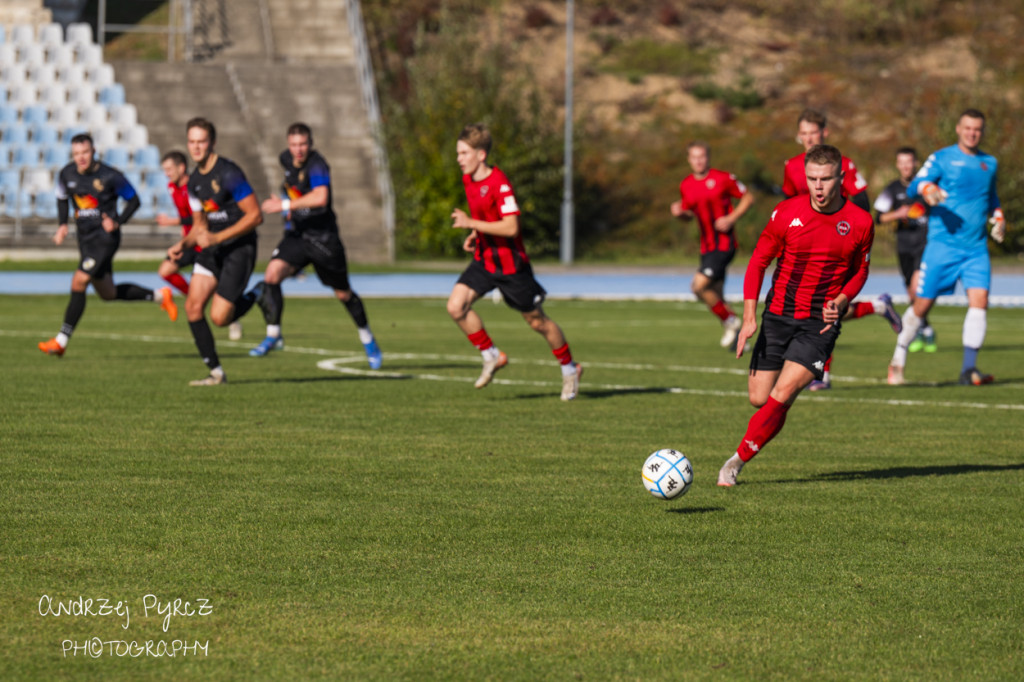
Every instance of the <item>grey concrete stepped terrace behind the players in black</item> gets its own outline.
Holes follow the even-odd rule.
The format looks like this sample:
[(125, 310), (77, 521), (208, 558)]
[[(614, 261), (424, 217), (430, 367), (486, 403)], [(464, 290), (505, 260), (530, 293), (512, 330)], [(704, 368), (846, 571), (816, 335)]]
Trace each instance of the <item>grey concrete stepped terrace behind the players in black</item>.
[[(114, 63), (151, 141), (162, 151), (184, 151), (185, 122), (210, 119), (217, 126), (217, 151), (245, 170), (262, 200), (280, 190), (278, 156), (288, 126), (308, 124), (315, 147), (331, 164), (334, 208), (349, 258), (387, 260), (374, 144), (344, 1), (226, 4), (230, 45), (209, 61)], [(259, 232), (261, 258), (281, 239), (282, 226), (279, 216), (267, 216)]]

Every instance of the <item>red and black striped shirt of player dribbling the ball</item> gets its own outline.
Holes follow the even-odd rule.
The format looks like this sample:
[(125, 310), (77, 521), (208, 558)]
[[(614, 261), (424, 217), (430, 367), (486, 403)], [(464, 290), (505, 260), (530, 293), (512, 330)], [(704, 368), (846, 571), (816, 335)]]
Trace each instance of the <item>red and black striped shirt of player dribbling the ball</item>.
[(871, 216), (844, 201), (835, 213), (819, 213), (809, 195), (775, 207), (746, 266), (743, 298), (759, 298), (765, 270), (778, 258), (765, 297), (768, 310), (806, 319), (841, 293), (853, 300), (867, 281), (874, 241)]

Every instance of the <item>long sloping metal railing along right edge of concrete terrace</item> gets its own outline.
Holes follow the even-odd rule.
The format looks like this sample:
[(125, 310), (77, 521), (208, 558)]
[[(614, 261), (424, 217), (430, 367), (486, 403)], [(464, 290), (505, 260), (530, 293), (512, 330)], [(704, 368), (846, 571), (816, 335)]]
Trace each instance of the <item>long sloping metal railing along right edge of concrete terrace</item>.
[(370, 134), (374, 139), (377, 166), (377, 186), (381, 193), (381, 210), (384, 233), (387, 237), (387, 257), (394, 261), (394, 187), (391, 184), (391, 169), (388, 165), (387, 147), (384, 143), (384, 126), (381, 119), (380, 101), (377, 98), (377, 82), (374, 79), (374, 62), (367, 44), (367, 30), (362, 23), (362, 8), (359, 0), (345, 0), (345, 14), (348, 17), (348, 32), (352, 36), (356, 69), (359, 76), (359, 93), (370, 121)]

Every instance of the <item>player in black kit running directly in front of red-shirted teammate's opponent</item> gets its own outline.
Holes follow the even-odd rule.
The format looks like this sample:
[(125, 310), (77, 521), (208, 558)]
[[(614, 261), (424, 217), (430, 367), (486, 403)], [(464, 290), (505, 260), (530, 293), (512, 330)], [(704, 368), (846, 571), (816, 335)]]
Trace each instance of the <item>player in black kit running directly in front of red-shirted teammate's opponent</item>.
[(177, 261), (193, 247), (201, 249), (193, 265), (185, 315), (210, 374), (188, 383), (216, 386), (225, 383), (227, 376), (206, 321), (206, 306), (212, 299), (210, 319), (224, 327), (248, 312), (256, 301), (255, 295), (244, 292), (256, 265), (256, 227), (263, 222), (263, 214), (242, 169), (214, 151), (214, 125), (196, 118), (185, 124), (185, 131), (188, 156), (196, 163), (188, 177), (193, 228), (167, 250), (167, 256)]

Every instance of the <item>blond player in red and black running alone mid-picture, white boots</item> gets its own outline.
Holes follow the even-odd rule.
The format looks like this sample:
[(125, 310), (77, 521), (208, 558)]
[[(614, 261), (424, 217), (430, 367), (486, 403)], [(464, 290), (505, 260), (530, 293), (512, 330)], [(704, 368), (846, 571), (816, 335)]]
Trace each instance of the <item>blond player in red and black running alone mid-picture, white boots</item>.
[(512, 184), (499, 168), (487, 164), (490, 132), (481, 124), (463, 128), (456, 142), (456, 159), (462, 169), (469, 215), (462, 209), (452, 212), (452, 226), (467, 229), (463, 249), (473, 260), (460, 275), (447, 300), (447, 311), (483, 356), (483, 371), (476, 388), (483, 388), (508, 357), (490, 340), (473, 303), (496, 287), (505, 303), (522, 313), (530, 328), (545, 338), (561, 366), (563, 400), (580, 392), (583, 367), (572, 360), (565, 335), (542, 307), (547, 292), (534, 278), (534, 268), (519, 231), (519, 205)]

